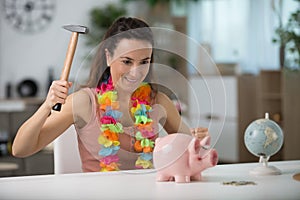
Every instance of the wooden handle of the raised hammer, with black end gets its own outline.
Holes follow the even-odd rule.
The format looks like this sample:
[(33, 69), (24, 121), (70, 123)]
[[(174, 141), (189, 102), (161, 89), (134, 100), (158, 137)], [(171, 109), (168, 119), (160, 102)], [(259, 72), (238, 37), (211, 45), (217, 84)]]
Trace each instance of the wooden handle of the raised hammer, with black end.
[[(60, 80), (68, 81), (68, 79), (69, 79), (69, 74), (70, 74), (71, 65), (73, 62), (73, 58), (74, 58), (74, 54), (75, 54), (75, 50), (76, 50), (76, 46), (77, 46), (77, 41), (78, 41), (78, 32), (73, 32), (70, 42), (69, 42), (67, 55), (66, 55), (64, 67), (63, 67), (63, 70), (62, 70), (62, 73), (60, 76)], [(52, 109), (55, 111), (60, 111), (61, 103), (55, 104)]]

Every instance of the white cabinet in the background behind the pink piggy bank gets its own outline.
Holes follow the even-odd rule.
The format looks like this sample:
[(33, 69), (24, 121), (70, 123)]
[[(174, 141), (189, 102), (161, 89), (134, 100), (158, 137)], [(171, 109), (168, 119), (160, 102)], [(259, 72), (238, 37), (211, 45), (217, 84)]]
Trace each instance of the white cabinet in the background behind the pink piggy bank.
[(195, 76), (188, 86), (190, 127), (208, 127), (220, 163), (238, 162), (237, 78)]

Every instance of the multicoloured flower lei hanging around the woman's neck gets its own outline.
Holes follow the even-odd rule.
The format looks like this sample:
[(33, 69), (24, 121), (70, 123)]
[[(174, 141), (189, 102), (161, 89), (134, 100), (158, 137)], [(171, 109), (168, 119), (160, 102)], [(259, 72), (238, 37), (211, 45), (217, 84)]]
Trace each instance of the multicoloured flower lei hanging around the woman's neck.
[[(122, 112), (118, 111), (117, 91), (114, 90), (111, 77), (96, 88), (96, 93), (99, 109), (104, 113), (100, 118), (101, 134), (98, 137), (98, 143), (101, 145), (99, 155), (102, 157), (100, 159), (100, 171), (118, 171), (120, 166), (117, 155), (120, 149), (119, 134), (124, 133), (124, 131), (120, 123)], [(152, 110), (150, 102), (151, 86), (148, 83), (142, 83), (131, 96), (132, 107), (130, 109), (135, 118), (134, 150), (139, 153), (135, 162), (138, 169), (153, 168), (151, 160), (155, 133), (152, 119), (149, 117), (149, 112)]]

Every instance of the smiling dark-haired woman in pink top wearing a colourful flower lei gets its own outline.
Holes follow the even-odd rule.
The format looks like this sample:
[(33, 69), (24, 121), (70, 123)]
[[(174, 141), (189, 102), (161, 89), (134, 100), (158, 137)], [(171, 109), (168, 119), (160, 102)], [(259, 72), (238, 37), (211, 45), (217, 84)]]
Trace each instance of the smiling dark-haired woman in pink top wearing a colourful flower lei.
[[(190, 129), (172, 101), (151, 78), (153, 35), (136, 18), (119, 18), (100, 44), (86, 87), (68, 96), (72, 83), (57, 80), (41, 107), (18, 130), (13, 155), (32, 155), (75, 124), (82, 169), (114, 171), (152, 168), (158, 123), (167, 133), (191, 132), (197, 137), (207, 129)], [(51, 112), (62, 103), (60, 112)]]

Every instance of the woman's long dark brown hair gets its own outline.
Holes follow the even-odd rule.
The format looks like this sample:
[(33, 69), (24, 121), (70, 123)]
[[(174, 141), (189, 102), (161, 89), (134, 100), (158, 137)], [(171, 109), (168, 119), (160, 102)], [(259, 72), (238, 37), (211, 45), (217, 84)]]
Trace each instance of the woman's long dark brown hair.
[[(107, 30), (99, 45), (91, 65), (90, 76), (86, 87), (97, 87), (109, 78), (110, 68), (107, 66), (105, 49), (113, 54), (120, 40), (124, 38), (144, 40), (152, 44), (152, 47), (154, 46), (153, 34), (146, 22), (131, 17), (118, 18)], [(150, 63), (153, 63), (153, 51)], [(151, 68), (152, 67), (149, 69), (146, 81), (151, 79)]]

